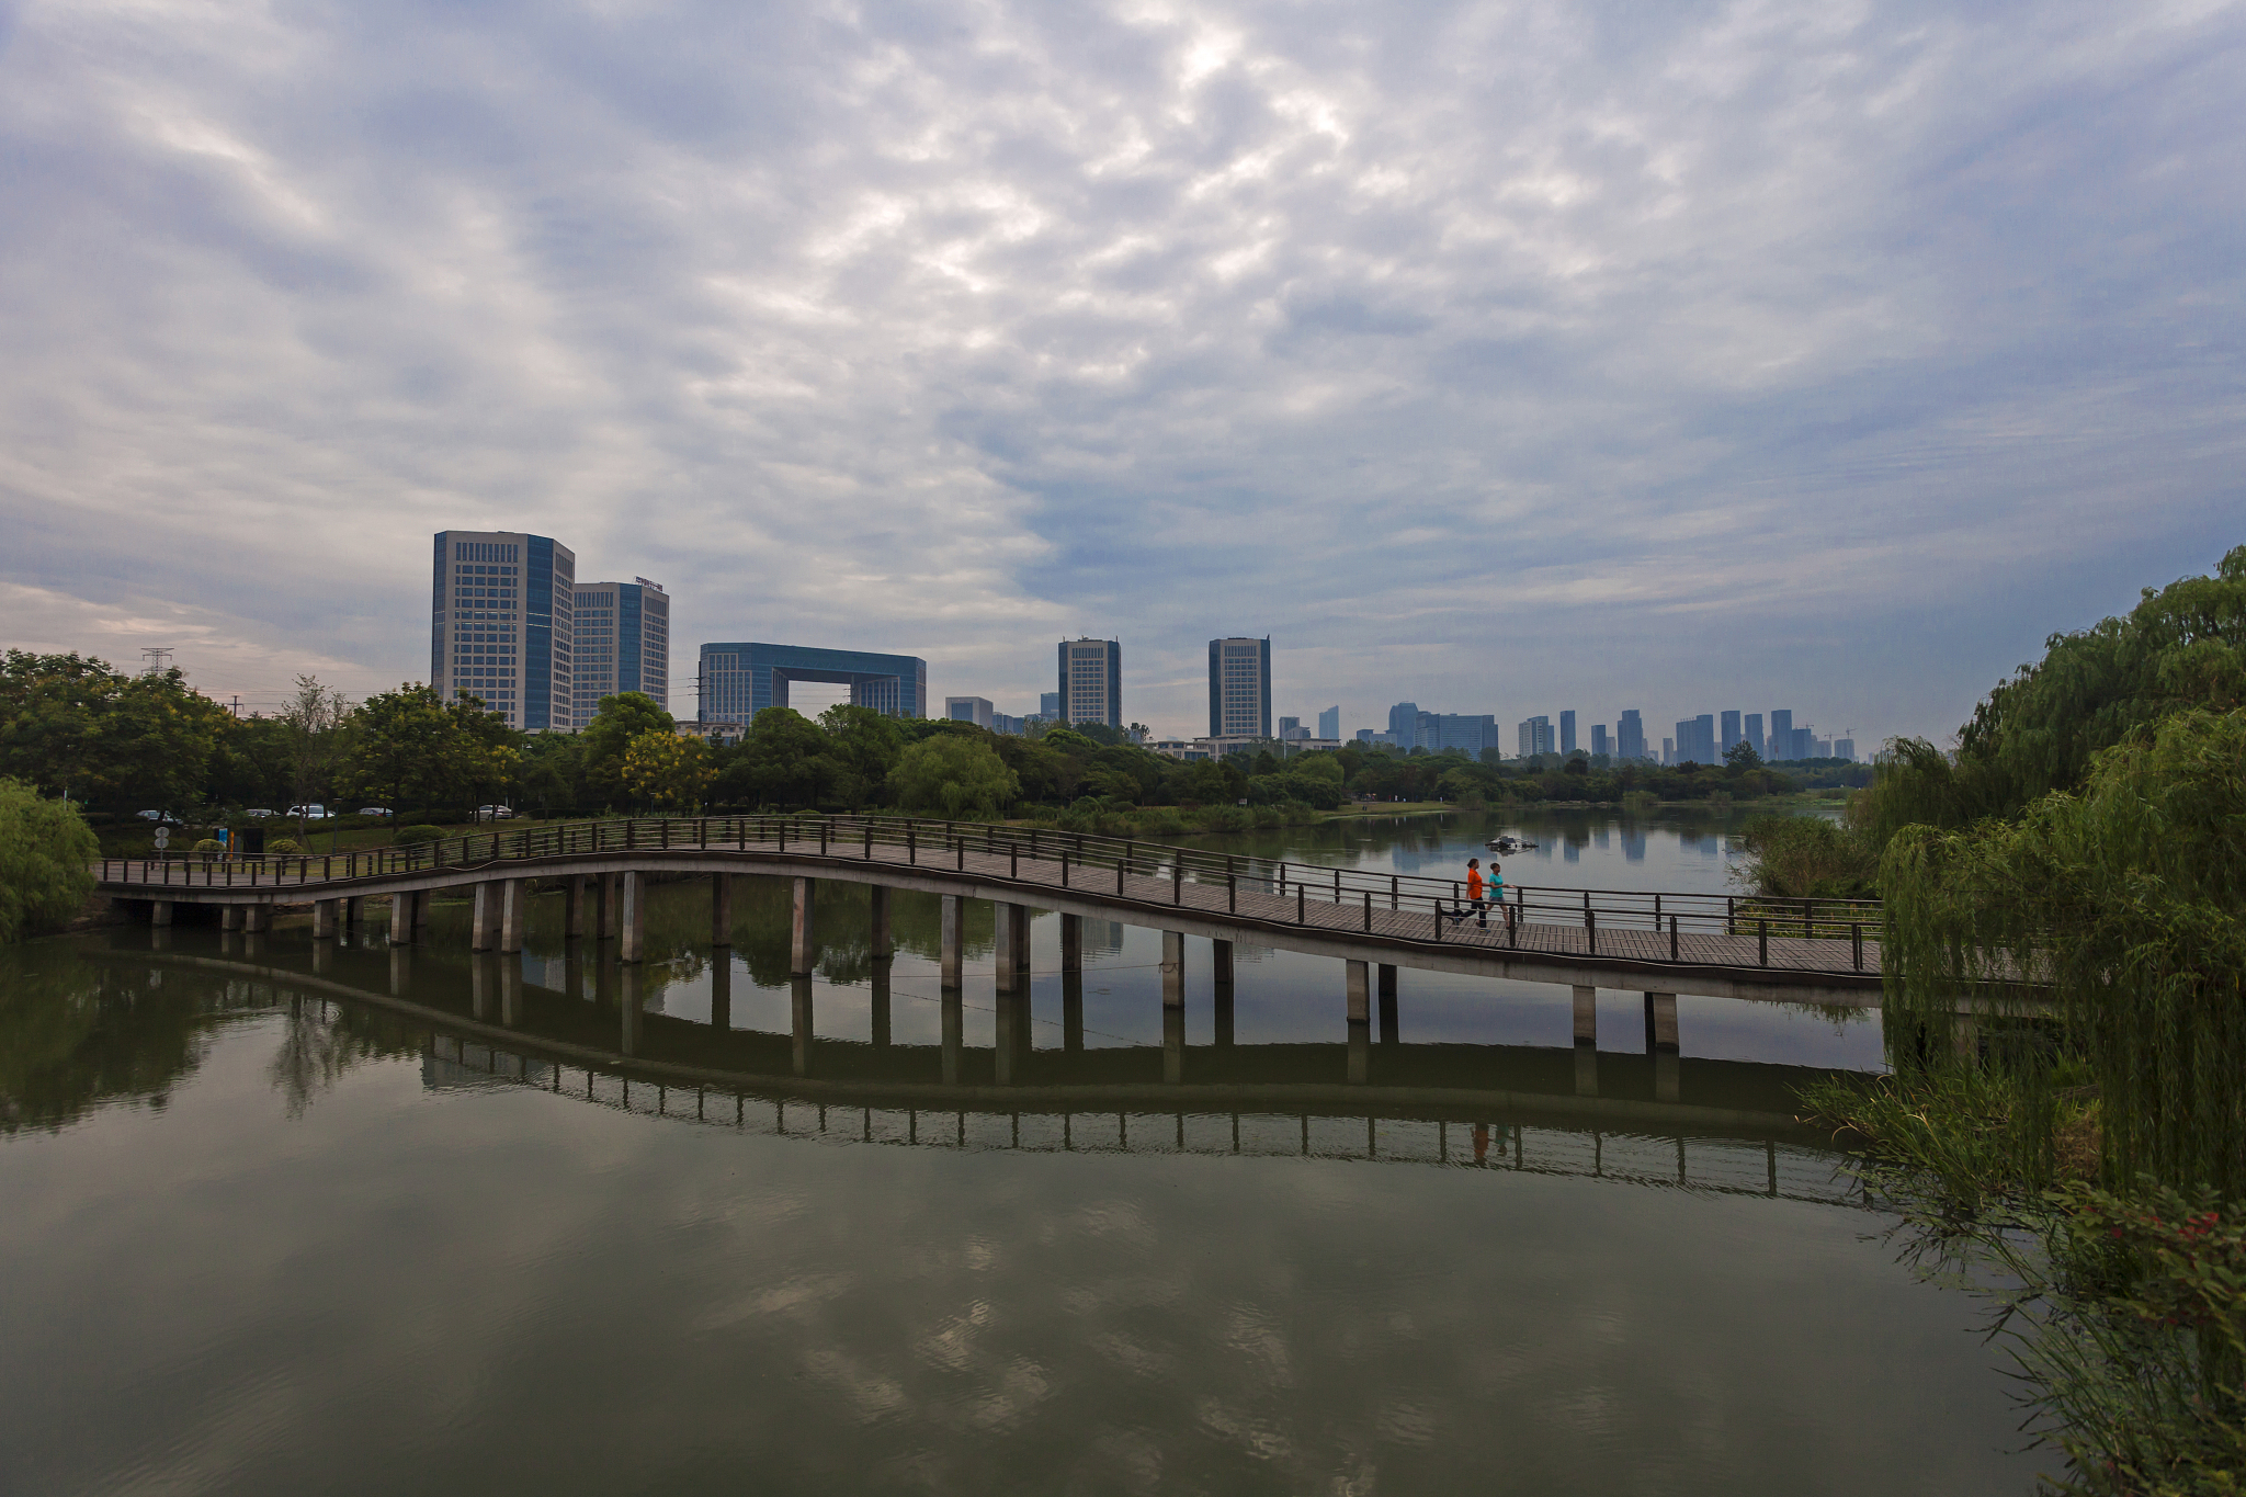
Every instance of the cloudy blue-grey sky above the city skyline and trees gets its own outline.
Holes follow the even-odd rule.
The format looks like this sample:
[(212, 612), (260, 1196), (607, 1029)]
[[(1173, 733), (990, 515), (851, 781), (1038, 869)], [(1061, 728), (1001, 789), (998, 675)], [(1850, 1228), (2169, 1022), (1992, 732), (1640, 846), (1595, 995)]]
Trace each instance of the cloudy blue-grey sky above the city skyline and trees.
[(2246, 541), (2246, 7), (0, 0), (0, 644), (429, 673), (429, 536), (1033, 711), (1947, 741)]

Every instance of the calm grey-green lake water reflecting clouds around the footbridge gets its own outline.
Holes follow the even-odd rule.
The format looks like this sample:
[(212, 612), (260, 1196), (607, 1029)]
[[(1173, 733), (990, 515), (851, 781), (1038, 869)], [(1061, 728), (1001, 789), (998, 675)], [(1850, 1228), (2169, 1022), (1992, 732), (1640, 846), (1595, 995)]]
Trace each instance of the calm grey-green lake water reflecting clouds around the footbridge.
[[(1406, 855), (1361, 830), (1330, 855)], [(2012, 1454), (1972, 1302), (1896, 1266), (1783, 1122), (1875, 1023), (1687, 1008), (1682, 1106), (1644, 1111), (1615, 994), (1581, 1106), (1617, 1115), (1570, 1113), (1565, 992), (1406, 972), (1352, 1111), (1332, 963), (1244, 952), (1217, 1046), (1188, 947), (1177, 1109), (1148, 938), (1089, 931), (1078, 1023), (1040, 920), (1015, 1111), (986, 945), (946, 1093), (934, 902), (898, 896), (878, 974), (862, 896), (824, 891), (797, 994), (779, 898), (741, 880), (712, 965), (703, 889), (658, 889), (636, 981), (557, 898), (519, 967), (467, 954), (460, 904), (402, 961), (380, 922), (317, 961), (301, 927), (0, 952), (0, 1488), (2026, 1493), (2048, 1466)]]

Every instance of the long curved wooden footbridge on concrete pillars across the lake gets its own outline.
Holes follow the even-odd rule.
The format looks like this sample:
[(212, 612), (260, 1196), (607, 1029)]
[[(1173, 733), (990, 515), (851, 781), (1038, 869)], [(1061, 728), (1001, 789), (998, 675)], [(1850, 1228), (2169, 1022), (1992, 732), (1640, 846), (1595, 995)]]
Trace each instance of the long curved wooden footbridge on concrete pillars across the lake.
[[(654, 880), (705, 878), (710, 940), (732, 943), (732, 880), (793, 882), (791, 972), (813, 970), (820, 880), (871, 893), (871, 954), (894, 954), (889, 893), (943, 900), (941, 981), (961, 985), (964, 900), (988, 900), (997, 927), (997, 990), (1029, 972), (1033, 909), (1060, 916), (1062, 970), (1080, 970), (1080, 920), (1119, 920), (1163, 936), (1166, 1026), (1184, 1023), (1186, 938), (1213, 947), (1220, 1003), (1233, 983), (1233, 943), (1343, 963), (1352, 1035), (1372, 1021), (1375, 979), (1393, 1010), (1399, 970), (1563, 983), (1574, 990), (1574, 1041), (1597, 1044), (1597, 990), (1646, 999), (1651, 1048), (1676, 1053), (1680, 992), (1871, 1008), (1880, 994), (1880, 911), (1871, 900), (1750, 900), (1743, 896), (1512, 887), (1478, 909), (1458, 880), (1211, 853), (1051, 828), (914, 817), (665, 817), (474, 833), (362, 853), (283, 857), (135, 857), (97, 866), (101, 891), (144, 902), (155, 927), (177, 904), (216, 904), (225, 929), (256, 934), (274, 907), (310, 904), (317, 940), (389, 902), (389, 943), (427, 931), (429, 896), (467, 889), (472, 949), (521, 952), (535, 884), (559, 884), (573, 938), (613, 940), (631, 970), (645, 949)], [(809, 1003), (809, 994), (804, 994)], [(1179, 1080), (1179, 1077), (1172, 1077)]]

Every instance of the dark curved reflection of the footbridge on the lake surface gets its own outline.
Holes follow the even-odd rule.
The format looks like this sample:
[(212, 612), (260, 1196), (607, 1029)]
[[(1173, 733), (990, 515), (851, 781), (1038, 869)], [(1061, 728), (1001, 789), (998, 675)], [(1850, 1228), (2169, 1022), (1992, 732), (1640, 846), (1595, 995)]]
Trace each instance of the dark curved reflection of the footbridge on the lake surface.
[[(1008, 1028), (1002, 1008), (993, 1048), (961, 1046), (950, 1014), (937, 1046), (885, 1044), (876, 1019), (871, 1044), (818, 1039), (818, 1064), (806, 1073), (797, 1035), (647, 1012), (627, 997), (629, 983), (577, 997), (528, 985), (519, 963), (478, 961), (460, 974), (467, 983), (447, 983), (440, 1001), (427, 1001), (258, 961), (130, 961), (427, 1023), (424, 1077), (433, 1084), (499, 1077), (775, 1136), (1062, 1154), (1294, 1154), (1862, 1205), (1842, 1156), (1795, 1120), (1795, 1089), (1830, 1075), (1806, 1066), (1601, 1053), (1597, 1084), (1586, 1091), (1581, 1048), (1386, 1039), (1372, 1046), (1370, 1068), (1345, 1044), (1193, 1046), (1184, 1080), (1166, 1080), (1177, 1075), (1168, 1046), (1031, 1050), (1026, 1023)], [(391, 963), (368, 963), (368, 976), (384, 967)], [(445, 1001), (454, 994), (458, 1001)], [(1011, 1066), (1006, 1046), (1015, 1046)]]

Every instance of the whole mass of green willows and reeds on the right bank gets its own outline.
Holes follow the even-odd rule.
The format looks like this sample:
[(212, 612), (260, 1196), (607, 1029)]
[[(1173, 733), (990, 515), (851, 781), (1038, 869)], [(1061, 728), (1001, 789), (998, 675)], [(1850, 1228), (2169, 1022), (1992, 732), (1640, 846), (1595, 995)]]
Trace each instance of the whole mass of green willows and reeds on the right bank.
[(1855, 808), (1891, 1077), (1824, 1084), (1918, 1250), (1979, 1273), (2053, 1484), (2246, 1481), (2246, 548), (2051, 640)]

